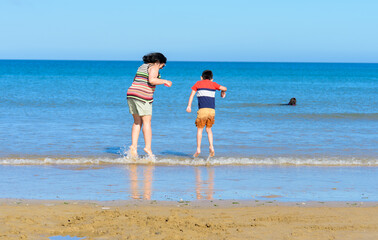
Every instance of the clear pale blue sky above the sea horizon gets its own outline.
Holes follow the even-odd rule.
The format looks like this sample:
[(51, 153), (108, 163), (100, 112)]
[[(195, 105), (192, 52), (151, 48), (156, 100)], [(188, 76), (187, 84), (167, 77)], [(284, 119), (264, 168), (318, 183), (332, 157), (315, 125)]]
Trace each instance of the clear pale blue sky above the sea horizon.
[(0, 59), (378, 62), (377, 0), (0, 0)]

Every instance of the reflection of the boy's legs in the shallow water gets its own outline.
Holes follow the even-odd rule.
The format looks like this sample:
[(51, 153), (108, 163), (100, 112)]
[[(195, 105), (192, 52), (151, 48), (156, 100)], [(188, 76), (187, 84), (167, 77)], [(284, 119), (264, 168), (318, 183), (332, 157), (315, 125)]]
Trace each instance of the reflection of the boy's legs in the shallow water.
[[(201, 168), (196, 167), (196, 199), (213, 199), (214, 193), (214, 169), (206, 168), (207, 170), (207, 181), (202, 181), (201, 179)], [(202, 193), (203, 192), (203, 193)], [(205, 193), (206, 192), (206, 193)]]

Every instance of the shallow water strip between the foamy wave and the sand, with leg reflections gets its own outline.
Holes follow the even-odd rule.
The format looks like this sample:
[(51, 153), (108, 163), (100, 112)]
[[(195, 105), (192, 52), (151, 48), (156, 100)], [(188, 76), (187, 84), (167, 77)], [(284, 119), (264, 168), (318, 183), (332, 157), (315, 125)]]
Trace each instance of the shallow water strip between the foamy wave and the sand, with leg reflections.
[(0, 172), (0, 198), (378, 201), (376, 167), (0, 165)]

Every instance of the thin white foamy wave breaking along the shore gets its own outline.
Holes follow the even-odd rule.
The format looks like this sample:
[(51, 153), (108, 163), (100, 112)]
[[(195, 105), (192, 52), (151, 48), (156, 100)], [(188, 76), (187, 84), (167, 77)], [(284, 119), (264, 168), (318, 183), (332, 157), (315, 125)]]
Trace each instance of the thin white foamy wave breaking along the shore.
[(141, 157), (36, 157), (36, 158), (0, 158), (0, 165), (182, 165), (182, 166), (222, 166), (222, 165), (292, 165), (292, 166), (378, 166), (376, 158), (347, 157), (212, 157), (190, 158), (177, 156)]

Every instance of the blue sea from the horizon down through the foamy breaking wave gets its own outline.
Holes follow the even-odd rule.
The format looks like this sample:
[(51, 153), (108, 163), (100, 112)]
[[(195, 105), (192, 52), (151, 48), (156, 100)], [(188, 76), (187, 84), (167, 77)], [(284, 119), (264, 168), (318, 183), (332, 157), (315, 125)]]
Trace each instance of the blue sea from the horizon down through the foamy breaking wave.
[[(0, 164), (131, 162), (126, 91), (140, 64), (0, 61)], [(197, 100), (185, 110), (206, 69), (228, 91), (216, 96), (216, 157), (204, 132), (194, 161)], [(378, 64), (168, 61), (161, 74), (173, 86), (154, 95), (155, 164), (378, 165)]]

